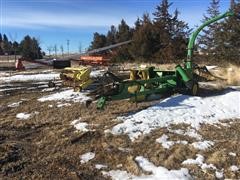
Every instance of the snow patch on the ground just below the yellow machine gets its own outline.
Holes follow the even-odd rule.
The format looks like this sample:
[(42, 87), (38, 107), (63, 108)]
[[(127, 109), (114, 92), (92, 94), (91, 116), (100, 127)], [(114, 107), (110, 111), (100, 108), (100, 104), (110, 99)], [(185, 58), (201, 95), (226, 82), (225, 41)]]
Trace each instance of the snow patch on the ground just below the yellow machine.
[(38, 99), (40, 102), (45, 102), (45, 101), (60, 101), (60, 100), (65, 100), (65, 101), (73, 101), (73, 102), (86, 102), (87, 100), (90, 100), (87, 96), (86, 93), (80, 93), (80, 92), (74, 92), (72, 89), (71, 90), (66, 90), (62, 92), (57, 92), (48, 96), (44, 96)]

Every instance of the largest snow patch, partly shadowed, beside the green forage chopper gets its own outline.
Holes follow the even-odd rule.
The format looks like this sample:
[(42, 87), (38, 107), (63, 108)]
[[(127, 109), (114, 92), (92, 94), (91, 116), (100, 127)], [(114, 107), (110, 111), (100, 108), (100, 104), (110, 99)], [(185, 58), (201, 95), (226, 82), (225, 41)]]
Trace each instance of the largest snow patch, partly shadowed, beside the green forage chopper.
[(171, 124), (189, 124), (198, 129), (201, 124), (240, 118), (240, 91), (226, 90), (222, 95), (206, 98), (176, 95), (137, 112), (122, 116), (122, 123), (112, 128), (113, 134), (127, 134), (131, 140), (152, 130)]

